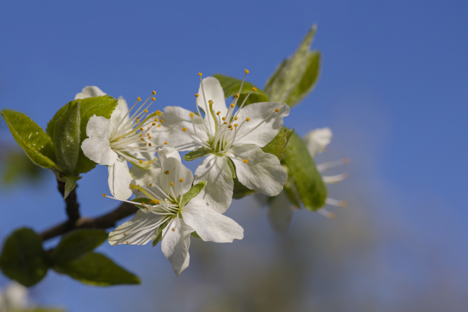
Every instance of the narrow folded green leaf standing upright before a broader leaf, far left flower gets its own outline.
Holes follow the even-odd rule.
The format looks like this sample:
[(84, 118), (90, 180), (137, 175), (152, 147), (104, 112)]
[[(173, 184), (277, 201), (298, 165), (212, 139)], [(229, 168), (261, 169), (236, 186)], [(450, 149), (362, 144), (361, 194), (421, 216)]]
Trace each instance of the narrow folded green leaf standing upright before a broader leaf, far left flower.
[(80, 151), (80, 103), (70, 102), (54, 125), (52, 141), (57, 164), (62, 172), (73, 174)]

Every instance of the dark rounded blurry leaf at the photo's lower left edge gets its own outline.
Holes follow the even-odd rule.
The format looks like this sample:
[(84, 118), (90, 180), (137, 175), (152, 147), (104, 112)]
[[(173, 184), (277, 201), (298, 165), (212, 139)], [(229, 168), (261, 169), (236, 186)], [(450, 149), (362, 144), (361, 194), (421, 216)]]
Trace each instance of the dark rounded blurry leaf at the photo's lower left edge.
[(13, 232), (3, 246), (0, 268), (3, 274), (27, 287), (42, 280), (49, 264), (40, 236), (28, 228)]

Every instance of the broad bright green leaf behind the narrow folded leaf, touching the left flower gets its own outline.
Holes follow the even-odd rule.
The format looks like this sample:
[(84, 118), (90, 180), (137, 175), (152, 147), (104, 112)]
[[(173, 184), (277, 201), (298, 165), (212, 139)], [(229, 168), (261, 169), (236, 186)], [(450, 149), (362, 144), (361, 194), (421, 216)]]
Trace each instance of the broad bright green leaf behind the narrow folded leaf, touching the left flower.
[[(96, 116), (104, 116), (104, 118), (109, 119), (110, 115), (114, 111), (114, 109), (117, 107), (117, 100), (114, 99), (112, 96), (109, 95), (103, 95), (103, 96), (98, 96), (98, 97), (90, 97), (87, 99), (80, 99), (80, 100), (74, 100), (71, 101), (70, 103), (80, 103), (80, 147), (81, 143), (86, 136), (86, 125), (88, 124), (89, 118), (93, 116), (94, 114)], [(54, 126), (55, 123), (57, 123), (57, 120), (65, 113), (66, 104), (64, 107), (59, 109), (59, 111), (53, 116), (53, 118), (47, 123), (47, 128), (46, 131), (49, 134), (49, 136), (53, 139), (54, 137)], [(89, 170), (93, 169), (96, 166), (96, 163), (92, 160), (90, 160), (88, 157), (86, 157), (81, 150), (79, 149), (79, 155), (78, 155), (78, 162), (76, 165), (75, 173), (80, 174), (80, 173), (85, 173), (88, 172)]]

